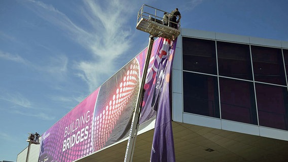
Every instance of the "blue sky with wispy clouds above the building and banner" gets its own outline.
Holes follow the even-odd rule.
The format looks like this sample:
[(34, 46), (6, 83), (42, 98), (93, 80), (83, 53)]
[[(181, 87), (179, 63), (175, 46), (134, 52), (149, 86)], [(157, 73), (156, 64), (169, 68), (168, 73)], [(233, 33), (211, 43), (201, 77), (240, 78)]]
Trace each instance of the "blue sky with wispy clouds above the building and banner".
[(0, 0), (0, 160), (47, 131), (141, 50), (142, 4), (178, 8), (182, 28), (288, 41), (286, 0)]

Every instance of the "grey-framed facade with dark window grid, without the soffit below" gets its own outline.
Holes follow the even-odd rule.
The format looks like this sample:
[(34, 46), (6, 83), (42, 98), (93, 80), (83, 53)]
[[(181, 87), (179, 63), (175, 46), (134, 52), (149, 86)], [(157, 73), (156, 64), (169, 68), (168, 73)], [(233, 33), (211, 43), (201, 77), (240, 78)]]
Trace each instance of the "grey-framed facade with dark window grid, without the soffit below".
[(288, 140), (287, 42), (191, 29), (181, 40), (174, 121)]

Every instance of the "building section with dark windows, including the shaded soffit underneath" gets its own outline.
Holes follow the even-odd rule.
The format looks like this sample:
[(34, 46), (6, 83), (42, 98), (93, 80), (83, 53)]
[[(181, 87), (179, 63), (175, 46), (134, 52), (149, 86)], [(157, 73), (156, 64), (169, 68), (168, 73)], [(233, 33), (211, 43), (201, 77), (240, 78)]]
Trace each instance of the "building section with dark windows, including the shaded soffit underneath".
[(172, 116), (189, 125), (173, 128), (176, 159), (286, 161), (288, 43), (182, 29), (177, 47)]

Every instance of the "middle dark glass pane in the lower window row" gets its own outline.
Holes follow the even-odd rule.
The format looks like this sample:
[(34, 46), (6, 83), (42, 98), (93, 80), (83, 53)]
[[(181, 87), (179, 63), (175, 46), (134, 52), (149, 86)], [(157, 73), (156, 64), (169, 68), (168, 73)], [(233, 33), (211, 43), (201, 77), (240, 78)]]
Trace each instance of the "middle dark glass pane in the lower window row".
[(220, 77), (221, 118), (258, 125), (253, 82)]

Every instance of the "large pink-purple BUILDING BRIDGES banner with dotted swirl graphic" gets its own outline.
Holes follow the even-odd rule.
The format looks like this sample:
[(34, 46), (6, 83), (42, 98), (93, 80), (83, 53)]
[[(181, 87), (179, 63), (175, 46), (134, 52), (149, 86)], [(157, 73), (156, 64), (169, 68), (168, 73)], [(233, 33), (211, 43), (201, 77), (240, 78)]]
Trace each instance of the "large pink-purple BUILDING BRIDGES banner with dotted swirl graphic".
[[(140, 124), (156, 115), (151, 94), (166, 44), (166, 39), (158, 38), (153, 45)], [(74, 161), (127, 137), (146, 56), (147, 49), (46, 131), (39, 161)]]

